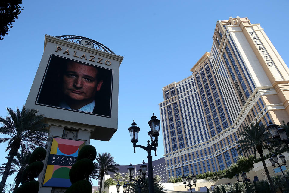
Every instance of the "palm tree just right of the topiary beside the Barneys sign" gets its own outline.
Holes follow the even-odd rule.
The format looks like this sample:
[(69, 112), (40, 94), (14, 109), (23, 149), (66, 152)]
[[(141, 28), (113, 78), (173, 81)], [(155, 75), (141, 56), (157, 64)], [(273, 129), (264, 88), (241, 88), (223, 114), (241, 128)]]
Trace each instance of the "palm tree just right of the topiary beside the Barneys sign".
[(101, 192), (102, 189), (102, 179), (104, 174), (108, 174), (108, 172), (115, 173), (119, 170), (117, 166), (119, 166), (119, 164), (113, 160), (113, 157), (109, 153), (105, 152), (102, 153), (102, 155), (98, 153), (98, 156), (96, 156), (95, 171), (98, 171), (98, 177), (100, 178), (99, 192)]

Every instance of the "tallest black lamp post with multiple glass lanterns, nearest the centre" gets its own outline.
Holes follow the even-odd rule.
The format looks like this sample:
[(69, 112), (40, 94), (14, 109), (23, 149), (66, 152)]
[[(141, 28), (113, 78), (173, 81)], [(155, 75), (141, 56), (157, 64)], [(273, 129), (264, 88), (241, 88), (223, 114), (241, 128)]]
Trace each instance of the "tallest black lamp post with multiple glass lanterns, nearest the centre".
[(133, 143), (133, 149), (135, 153), (135, 147), (140, 147), (148, 152), (148, 185), (149, 185), (149, 193), (154, 193), (154, 177), (153, 177), (153, 163), (151, 150), (154, 150), (155, 156), (157, 155), (157, 137), (160, 135), (160, 120), (153, 114), (151, 120), (148, 122), (148, 125), (151, 128), (151, 133), (148, 133), (151, 138), (148, 140), (147, 147), (142, 145), (136, 145), (138, 142), (138, 132), (140, 128), (136, 126), (135, 121), (133, 121), (132, 126), (129, 128), (129, 134), (131, 137), (131, 142)]

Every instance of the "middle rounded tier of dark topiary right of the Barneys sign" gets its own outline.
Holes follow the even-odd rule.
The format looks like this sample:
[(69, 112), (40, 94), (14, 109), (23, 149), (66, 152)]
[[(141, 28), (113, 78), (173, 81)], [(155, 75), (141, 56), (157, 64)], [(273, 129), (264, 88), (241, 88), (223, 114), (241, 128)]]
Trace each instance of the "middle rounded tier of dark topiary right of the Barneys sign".
[(69, 171), (70, 182), (74, 184), (77, 181), (88, 178), (93, 169), (93, 162), (87, 158), (76, 161)]

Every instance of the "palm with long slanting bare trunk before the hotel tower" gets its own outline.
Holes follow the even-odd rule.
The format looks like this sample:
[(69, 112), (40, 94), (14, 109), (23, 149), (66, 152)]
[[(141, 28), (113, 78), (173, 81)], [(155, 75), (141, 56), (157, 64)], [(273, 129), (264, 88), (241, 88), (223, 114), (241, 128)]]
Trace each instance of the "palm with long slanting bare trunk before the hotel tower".
[(268, 149), (270, 150), (272, 147), (270, 147), (270, 138), (269, 138), (269, 133), (265, 129), (264, 125), (261, 124), (256, 124), (256, 125), (251, 125), (251, 127), (243, 128), (244, 131), (240, 133), (243, 138), (241, 138), (238, 142), (240, 143), (240, 147), (238, 147), (238, 150), (240, 152), (247, 152), (249, 150), (254, 149), (254, 154), (259, 153), (260, 158), (263, 163), (263, 167), (266, 172), (266, 176), (268, 178), (269, 184), (270, 184), (270, 189), (272, 193), (275, 193), (275, 187), (272, 182), (272, 179), (270, 177), (270, 174), (268, 172), (268, 169), (266, 167), (265, 159), (263, 156), (263, 149)]

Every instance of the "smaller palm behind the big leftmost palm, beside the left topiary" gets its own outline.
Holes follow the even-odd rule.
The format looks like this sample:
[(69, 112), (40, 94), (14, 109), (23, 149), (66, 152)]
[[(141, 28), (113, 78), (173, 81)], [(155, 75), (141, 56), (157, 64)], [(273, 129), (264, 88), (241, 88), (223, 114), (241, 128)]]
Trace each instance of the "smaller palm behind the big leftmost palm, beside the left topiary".
[[(16, 176), (14, 178), (15, 180), (14, 191), (18, 188), (21, 182), (21, 176), (26, 166), (28, 166), (30, 155), (31, 155), (30, 150), (21, 148), (20, 153), (18, 152), (16, 155), (16, 159), (14, 158), (12, 160), (12, 164), (11, 164), (11, 168), (10, 168), (8, 176), (16, 173)], [(5, 158), (9, 159), (8, 156), (6, 156)], [(0, 175), (3, 175), (5, 171), (5, 167), (6, 167), (6, 163), (3, 163), (2, 166), (0, 167)]]

